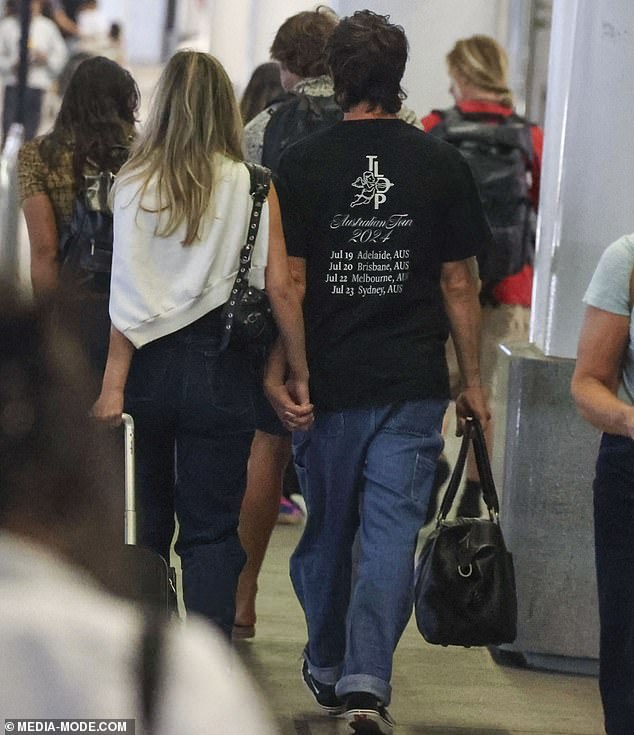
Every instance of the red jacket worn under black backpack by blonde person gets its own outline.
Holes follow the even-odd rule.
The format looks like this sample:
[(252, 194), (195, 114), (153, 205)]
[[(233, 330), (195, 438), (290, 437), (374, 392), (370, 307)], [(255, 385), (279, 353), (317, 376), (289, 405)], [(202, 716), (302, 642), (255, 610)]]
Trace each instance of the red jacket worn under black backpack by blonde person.
[[(493, 115), (510, 115), (513, 113), (511, 107), (503, 107), (495, 102), (484, 102), (481, 100), (463, 100), (458, 102), (458, 109), (464, 113), (484, 112)], [(422, 119), (423, 128), (427, 132), (433, 130), (442, 118), (436, 112), (432, 112)], [(542, 169), (542, 153), (544, 149), (544, 133), (537, 125), (531, 125), (531, 140), (533, 143), (533, 160), (531, 161), (531, 188), (530, 198), (533, 208), (537, 211), (539, 205), (539, 182)], [(533, 268), (525, 265), (519, 272), (503, 281), (500, 281), (493, 289), (493, 295), (502, 304), (531, 305), (531, 292), (533, 288)]]

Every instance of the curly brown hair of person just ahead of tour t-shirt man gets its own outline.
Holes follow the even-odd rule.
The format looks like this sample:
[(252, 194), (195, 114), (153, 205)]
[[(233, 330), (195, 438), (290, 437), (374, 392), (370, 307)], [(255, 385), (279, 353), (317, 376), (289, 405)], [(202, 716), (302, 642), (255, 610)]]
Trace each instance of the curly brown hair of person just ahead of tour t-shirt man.
[(271, 58), (304, 79), (328, 74), (326, 41), (337, 23), (334, 11), (325, 5), (292, 15), (275, 34)]

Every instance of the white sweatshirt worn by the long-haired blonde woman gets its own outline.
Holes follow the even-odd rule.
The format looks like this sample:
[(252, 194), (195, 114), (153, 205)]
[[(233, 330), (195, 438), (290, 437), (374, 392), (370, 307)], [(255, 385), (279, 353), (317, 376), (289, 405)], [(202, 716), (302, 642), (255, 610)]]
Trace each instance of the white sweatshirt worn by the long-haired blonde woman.
[[(138, 180), (126, 177), (115, 185), (110, 318), (137, 348), (191, 324), (229, 299), (253, 200), (243, 163), (216, 155), (214, 165), (212, 201), (201, 222), (201, 238), (192, 245), (181, 244), (184, 223), (169, 237), (156, 234), (161, 215), (152, 211), (158, 209), (152, 182), (144, 208)], [(268, 231), (265, 202), (249, 275), (258, 288), (264, 287)]]

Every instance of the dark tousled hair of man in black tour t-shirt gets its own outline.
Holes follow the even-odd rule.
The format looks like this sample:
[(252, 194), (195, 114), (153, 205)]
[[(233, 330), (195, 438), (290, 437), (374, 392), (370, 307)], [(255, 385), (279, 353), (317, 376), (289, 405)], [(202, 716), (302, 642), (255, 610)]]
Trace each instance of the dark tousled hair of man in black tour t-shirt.
[(401, 79), (408, 44), (401, 26), (389, 15), (359, 10), (343, 18), (326, 44), (326, 58), (335, 84), (335, 98), (344, 112), (360, 102), (370, 110), (396, 113), (405, 92)]

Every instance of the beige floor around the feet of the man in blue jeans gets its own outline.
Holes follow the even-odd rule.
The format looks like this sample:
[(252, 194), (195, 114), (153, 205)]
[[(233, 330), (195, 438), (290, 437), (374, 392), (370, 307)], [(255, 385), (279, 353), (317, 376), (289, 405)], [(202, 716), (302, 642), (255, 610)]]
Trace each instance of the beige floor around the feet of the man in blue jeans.
[[(260, 580), (256, 637), (238, 644), (283, 735), (335, 735), (299, 677), (305, 628), (288, 578), (300, 528), (278, 526)], [(499, 666), (485, 649), (441, 648), (410, 622), (396, 652), (395, 735), (601, 735), (592, 677)]]

